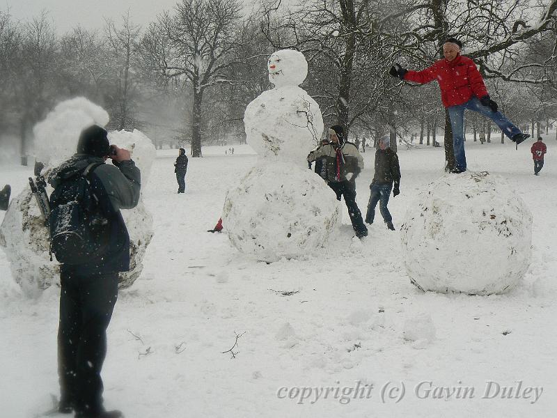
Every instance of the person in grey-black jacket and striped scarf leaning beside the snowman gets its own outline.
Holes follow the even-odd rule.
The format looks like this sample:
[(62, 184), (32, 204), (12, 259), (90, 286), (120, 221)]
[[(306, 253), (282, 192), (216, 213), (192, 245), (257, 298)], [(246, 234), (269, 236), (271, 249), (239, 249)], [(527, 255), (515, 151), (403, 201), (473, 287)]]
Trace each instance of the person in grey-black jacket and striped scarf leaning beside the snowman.
[(363, 170), (363, 158), (358, 149), (351, 142), (345, 141), (344, 129), (340, 125), (329, 128), (329, 144), (320, 146), (308, 154), (308, 162), (324, 158), (324, 172), (327, 184), (340, 201), (344, 201), (348, 208), (352, 228), (358, 238), (368, 235), (368, 228), (363, 223), (360, 209), (356, 203), (356, 177)]

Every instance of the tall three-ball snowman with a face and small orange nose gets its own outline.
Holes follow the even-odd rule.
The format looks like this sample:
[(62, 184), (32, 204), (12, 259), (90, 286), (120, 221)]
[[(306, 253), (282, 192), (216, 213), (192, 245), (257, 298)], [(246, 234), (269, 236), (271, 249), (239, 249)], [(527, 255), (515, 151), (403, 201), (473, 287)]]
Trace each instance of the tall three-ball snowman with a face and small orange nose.
[(299, 258), (322, 247), (340, 224), (340, 207), (306, 156), (323, 132), (319, 105), (299, 87), (304, 54), (290, 49), (267, 61), (274, 88), (246, 108), (246, 141), (258, 162), (228, 191), (223, 223), (239, 251), (261, 261)]

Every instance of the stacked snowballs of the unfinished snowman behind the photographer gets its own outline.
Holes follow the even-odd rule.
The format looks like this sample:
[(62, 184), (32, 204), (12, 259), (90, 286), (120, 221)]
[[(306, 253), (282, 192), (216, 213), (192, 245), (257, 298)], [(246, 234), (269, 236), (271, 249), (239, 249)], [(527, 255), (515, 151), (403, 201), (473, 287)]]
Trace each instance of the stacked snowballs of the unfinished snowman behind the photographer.
[[(42, 175), (47, 178), (54, 167), (75, 153), (81, 130), (93, 123), (104, 126), (108, 121), (107, 111), (85, 98), (58, 104), (44, 121), (33, 127), (33, 148), (37, 160), (45, 164)], [(141, 187), (144, 188), (155, 155), (150, 139), (138, 130), (122, 130), (109, 132), (109, 141), (130, 150), (136, 166), (141, 169)], [(52, 188), (47, 187), (47, 192), (50, 194)], [(130, 233), (130, 271), (120, 272), (118, 286), (127, 288), (143, 269), (141, 261), (152, 237), (152, 216), (143, 199), (135, 208), (123, 210), (122, 215)], [(13, 279), (26, 295), (36, 297), (58, 284), (59, 268), (56, 261), (50, 261), (48, 229), (29, 187), (13, 199), (4, 216), (0, 246), (10, 261)]]

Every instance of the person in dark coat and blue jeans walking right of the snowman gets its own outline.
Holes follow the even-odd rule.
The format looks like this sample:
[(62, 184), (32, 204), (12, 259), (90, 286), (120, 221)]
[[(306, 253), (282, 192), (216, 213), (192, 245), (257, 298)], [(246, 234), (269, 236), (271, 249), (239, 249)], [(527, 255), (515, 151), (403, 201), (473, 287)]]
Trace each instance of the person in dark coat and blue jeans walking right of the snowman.
[[(372, 224), (375, 218), (375, 206), (379, 202), (379, 210), (387, 228), (395, 230), (393, 217), (387, 208), (389, 195), (393, 189), (393, 197), (400, 194), (400, 166), (398, 155), (389, 148), (391, 140), (389, 135), (379, 139), (379, 149), (375, 152), (375, 174), (370, 184), (370, 201), (366, 213), (366, 224)], [(394, 185), (394, 187), (393, 187)]]

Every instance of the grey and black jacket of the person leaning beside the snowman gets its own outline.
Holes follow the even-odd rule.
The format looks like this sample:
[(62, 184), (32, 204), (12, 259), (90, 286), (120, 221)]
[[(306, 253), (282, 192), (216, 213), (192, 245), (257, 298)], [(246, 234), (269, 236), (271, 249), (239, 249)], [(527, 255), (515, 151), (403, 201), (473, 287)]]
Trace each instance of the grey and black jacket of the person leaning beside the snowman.
[[(340, 153), (337, 154), (337, 150), (340, 150)], [(354, 180), (363, 170), (363, 158), (352, 142), (345, 142), (342, 146), (335, 144), (320, 146), (308, 155), (308, 162), (317, 160), (322, 160), (320, 176), (327, 182), (346, 181), (348, 174), (350, 180)]]

